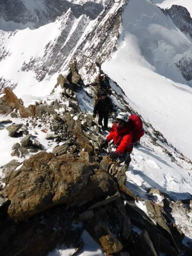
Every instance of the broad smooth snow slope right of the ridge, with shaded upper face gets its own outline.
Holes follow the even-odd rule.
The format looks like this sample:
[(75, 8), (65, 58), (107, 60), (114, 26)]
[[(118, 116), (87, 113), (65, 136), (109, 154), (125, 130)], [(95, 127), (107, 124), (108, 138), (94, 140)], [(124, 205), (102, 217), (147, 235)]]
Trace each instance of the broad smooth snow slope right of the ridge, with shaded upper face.
[(192, 88), (174, 66), (187, 48), (191, 54), (191, 42), (146, 0), (130, 0), (122, 20), (118, 50), (102, 69), (129, 104), (192, 159)]

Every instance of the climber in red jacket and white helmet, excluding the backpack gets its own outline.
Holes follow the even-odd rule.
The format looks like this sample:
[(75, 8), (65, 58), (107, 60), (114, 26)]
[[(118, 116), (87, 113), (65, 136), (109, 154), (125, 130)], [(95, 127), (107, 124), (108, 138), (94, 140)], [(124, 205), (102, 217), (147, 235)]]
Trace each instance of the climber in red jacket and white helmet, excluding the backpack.
[(107, 148), (108, 142), (113, 139), (113, 142), (116, 145), (116, 150), (115, 152), (111, 152), (108, 158), (112, 161), (125, 161), (125, 165), (127, 165), (127, 167), (131, 161), (130, 153), (133, 150), (132, 130), (130, 129), (128, 122), (129, 115), (127, 113), (120, 112), (109, 135), (101, 142), (100, 145), (100, 149), (104, 147)]

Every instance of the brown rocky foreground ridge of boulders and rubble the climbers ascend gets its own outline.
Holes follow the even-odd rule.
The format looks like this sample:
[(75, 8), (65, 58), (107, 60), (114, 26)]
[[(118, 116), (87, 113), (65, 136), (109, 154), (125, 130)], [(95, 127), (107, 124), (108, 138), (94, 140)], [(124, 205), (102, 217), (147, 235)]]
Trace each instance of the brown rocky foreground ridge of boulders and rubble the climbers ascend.
[[(99, 66), (98, 69), (101, 76), (102, 70)], [(83, 246), (79, 240), (83, 228), (106, 255), (191, 255), (191, 250), (182, 244), (184, 234), (175, 225), (174, 217), (178, 205), (181, 214), (190, 215), (192, 196), (174, 202), (158, 189), (149, 189), (148, 199), (144, 200), (126, 186), (122, 166), (98, 155), (98, 143), (103, 139), (101, 128), (92, 115), (80, 110), (78, 101), (79, 93), (91, 100), (98, 86), (96, 79), (85, 87), (73, 60), (69, 74), (60, 75), (52, 91), (60, 87), (60, 97), (26, 108), (33, 112), (21, 111), (22, 100), (5, 89), (0, 104), (5, 116), (1, 129), (21, 140), (12, 147), (15, 159), (2, 167), (2, 255), (47, 255), (63, 242), (76, 247), (73, 255), (78, 255)], [(85, 88), (89, 89), (86, 93)], [(112, 97), (123, 106), (115, 105), (115, 109), (136, 113), (114, 90)], [(11, 116), (19, 122), (11, 123)], [(177, 159), (183, 157), (190, 162), (149, 123), (144, 122), (144, 127), (151, 143), (161, 147), (172, 161), (178, 164)], [(44, 133), (48, 144), (41, 145), (33, 131)], [(174, 155), (164, 145), (172, 147)], [(162, 199), (159, 203), (155, 203), (157, 194)], [(139, 203), (144, 203), (149, 216), (138, 207)], [(79, 228), (73, 228), (74, 221), (80, 223)], [(135, 226), (139, 231), (134, 231)], [(10, 243), (12, 246), (7, 246)]]

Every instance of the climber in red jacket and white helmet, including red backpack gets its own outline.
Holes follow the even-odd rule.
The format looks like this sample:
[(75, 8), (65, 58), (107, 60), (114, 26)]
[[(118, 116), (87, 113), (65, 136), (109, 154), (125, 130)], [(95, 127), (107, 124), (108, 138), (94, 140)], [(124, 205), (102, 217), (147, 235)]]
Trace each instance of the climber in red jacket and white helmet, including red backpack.
[(129, 167), (131, 162), (130, 153), (133, 150), (134, 143), (139, 141), (144, 135), (143, 123), (139, 116), (120, 112), (116, 117), (116, 122), (111, 128), (107, 138), (100, 144), (100, 149), (107, 148), (108, 143), (113, 139), (116, 146), (115, 152), (109, 154), (111, 161), (123, 162)]

